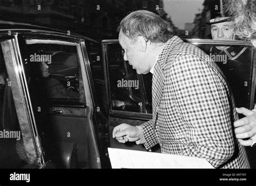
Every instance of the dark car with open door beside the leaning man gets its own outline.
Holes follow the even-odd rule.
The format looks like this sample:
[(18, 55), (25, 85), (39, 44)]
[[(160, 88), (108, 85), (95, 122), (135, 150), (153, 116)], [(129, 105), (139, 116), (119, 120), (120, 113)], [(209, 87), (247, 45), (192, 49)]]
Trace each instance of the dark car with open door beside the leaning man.
[[(111, 168), (108, 147), (146, 151), (112, 139), (114, 126), (152, 118), (152, 74), (137, 74), (118, 40), (100, 46), (81, 35), (14, 25), (0, 30), (0, 131), (9, 134), (0, 135), (0, 168)], [(249, 41), (184, 41), (207, 54), (218, 45), (236, 52), (246, 47), (241, 61), (215, 62), (237, 106), (254, 108), (255, 48)]]

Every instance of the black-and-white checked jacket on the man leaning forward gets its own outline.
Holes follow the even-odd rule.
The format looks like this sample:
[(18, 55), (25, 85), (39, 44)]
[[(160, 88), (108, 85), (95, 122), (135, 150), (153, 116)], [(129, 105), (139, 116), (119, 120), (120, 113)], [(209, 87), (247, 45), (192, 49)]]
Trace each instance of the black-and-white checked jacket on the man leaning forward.
[(153, 119), (142, 124), (145, 147), (204, 158), (215, 168), (250, 168), (234, 137), (238, 119), (221, 70), (179, 37), (159, 55), (152, 80)]

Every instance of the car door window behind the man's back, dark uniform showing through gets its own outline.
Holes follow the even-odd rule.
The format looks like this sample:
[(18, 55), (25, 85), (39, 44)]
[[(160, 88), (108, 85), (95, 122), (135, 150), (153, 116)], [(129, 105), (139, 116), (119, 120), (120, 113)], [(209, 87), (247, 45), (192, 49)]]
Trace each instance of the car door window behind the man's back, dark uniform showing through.
[(248, 108), (252, 86), (253, 47), (216, 44), (196, 46), (208, 54), (208, 58), (223, 71), (231, 87), (236, 106)]

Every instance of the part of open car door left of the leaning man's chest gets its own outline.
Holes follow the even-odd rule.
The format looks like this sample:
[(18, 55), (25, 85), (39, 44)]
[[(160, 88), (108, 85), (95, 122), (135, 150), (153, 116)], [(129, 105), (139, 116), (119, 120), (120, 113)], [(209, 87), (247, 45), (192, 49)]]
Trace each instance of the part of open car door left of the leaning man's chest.
[[(124, 61), (118, 40), (103, 40), (102, 52), (106, 104), (109, 106), (109, 146), (146, 151), (144, 145), (136, 145), (134, 142), (120, 144), (112, 138), (112, 131), (122, 123), (136, 126), (152, 119), (152, 74), (137, 74), (129, 61)], [(160, 148), (156, 146), (149, 151), (160, 152)]]

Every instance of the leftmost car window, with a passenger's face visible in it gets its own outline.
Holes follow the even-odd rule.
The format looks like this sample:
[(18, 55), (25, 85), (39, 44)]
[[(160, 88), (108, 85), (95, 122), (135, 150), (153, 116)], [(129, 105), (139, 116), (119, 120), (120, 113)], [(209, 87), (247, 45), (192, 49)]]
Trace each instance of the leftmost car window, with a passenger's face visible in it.
[(30, 94), (55, 105), (85, 104), (76, 46), (24, 44), (22, 56)]

